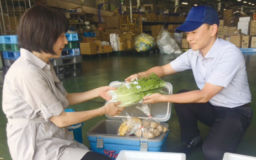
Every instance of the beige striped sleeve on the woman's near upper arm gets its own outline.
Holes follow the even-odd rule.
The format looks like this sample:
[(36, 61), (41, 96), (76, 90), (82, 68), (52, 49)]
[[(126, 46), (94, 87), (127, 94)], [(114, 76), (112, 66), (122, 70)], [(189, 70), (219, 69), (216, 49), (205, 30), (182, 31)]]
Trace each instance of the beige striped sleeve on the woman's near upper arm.
[(60, 115), (64, 108), (54, 95), (46, 77), (47, 75), (39, 69), (24, 70), (15, 76), (13, 87), (24, 101), (47, 121), (52, 116)]

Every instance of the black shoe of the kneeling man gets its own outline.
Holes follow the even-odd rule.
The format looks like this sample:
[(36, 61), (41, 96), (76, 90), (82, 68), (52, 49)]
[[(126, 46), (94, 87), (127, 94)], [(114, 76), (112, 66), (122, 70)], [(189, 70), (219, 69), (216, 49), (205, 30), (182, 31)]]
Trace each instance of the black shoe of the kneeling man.
[(200, 140), (196, 145), (194, 145), (193, 140), (188, 140), (187, 142), (184, 142), (178, 150), (176, 150), (177, 153), (184, 153), (189, 154), (193, 149), (197, 147), (201, 147), (203, 145), (203, 140)]

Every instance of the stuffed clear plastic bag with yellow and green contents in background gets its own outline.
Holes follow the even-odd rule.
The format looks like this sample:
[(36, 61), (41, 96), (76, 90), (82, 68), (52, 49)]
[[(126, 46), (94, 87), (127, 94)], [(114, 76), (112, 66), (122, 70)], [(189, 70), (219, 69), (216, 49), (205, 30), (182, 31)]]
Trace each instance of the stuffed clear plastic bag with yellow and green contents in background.
[(156, 44), (155, 44), (155, 38), (142, 33), (135, 38), (135, 49), (138, 52), (151, 50)]

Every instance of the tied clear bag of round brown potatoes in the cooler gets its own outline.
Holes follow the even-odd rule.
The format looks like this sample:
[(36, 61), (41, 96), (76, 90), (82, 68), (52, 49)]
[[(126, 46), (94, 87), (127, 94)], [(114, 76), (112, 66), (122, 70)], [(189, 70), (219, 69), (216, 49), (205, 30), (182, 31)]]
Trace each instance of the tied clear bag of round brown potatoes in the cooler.
[[(150, 104), (149, 104), (150, 105)], [(141, 110), (142, 112), (144, 112), (144, 114), (146, 114), (148, 116), (148, 118), (142, 120), (142, 126), (144, 128), (150, 128), (152, 130), (154, 130), (155, 133), (157, 133), (156, 130), (158, 130), (159, 132), (167, 132), (168, 128), (164, 125), (162, 125), (156, 118), (151, 116), (150, 113), (150, 106), (148, 106), (148, 104), (142, 104), (141, 106), (137, 106), (137, 109)], [(156, 134), (156, 135), (160, 135), (160, 134)], [(156, 137), (158, 137), (156, 136)]]

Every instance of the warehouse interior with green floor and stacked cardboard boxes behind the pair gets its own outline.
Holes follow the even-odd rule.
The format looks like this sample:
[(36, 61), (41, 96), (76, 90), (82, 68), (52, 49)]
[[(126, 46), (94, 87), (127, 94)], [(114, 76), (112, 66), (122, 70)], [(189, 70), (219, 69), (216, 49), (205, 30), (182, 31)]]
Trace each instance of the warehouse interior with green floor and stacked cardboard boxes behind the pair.
[[(192, 7), (212, 6), (220, 19), (218, 38), (233, 43), (244, 56), (252, 94), (251, 107), (256, 112), (255, 0), (0, 0), (0, 159), (12, 160), (6, 136), (8, 120), (2, 110), (4, 76), (20, 57), (16, 36), (20, 19), (26, 10), (37, 4), (54, 8), (69, 20), (70, 28), (66, 33), (68, 44), (60, 58), (50, 60), (56, 76), (68, 93), (109, 86), (116, 81), (124, 82), (132, 74), (175, 60), (191, 46), (186, 33), (174, 33), (174, 30), (185, 22)], [(163, 32), (174, 40), (172, 45), (175, 47), (164, 48), (164, 44), (161, 46), (158, 43)], [(144, 41), (145, 37), (140, 36), (142, 33), (150, 42), (141, 47), (136, 44)], [(198, 90), (191, 70), (162, 79), (172, 85), (173, 93), (182, 89)], [(94, 98), (69, 108), (76, 111), (92, 110), (105, 103), (106, 100), (102, 98)], [(89, 149), (88, 132), (100, 121), (109, 118), (102, 115), (83, 122), (82, 143)], [(256, 158), (255, 119), (254, 116), (235, 154)], [(170, 104), (170, 118), (164, 122), (168, 124), (169, 131), (162, 152), (175, 152), (181, 142), (173, 104)], [(198, 127), (200, 136), (206, 138), (210, 128), (201, 122), (198, 122)], [(106, 152), (113, 160), (117, 154)], [(186, 160), (204, 160), (202, 148), (196, 148), (186, 156)]]

